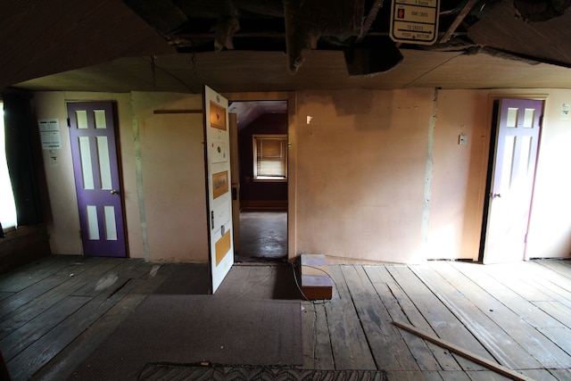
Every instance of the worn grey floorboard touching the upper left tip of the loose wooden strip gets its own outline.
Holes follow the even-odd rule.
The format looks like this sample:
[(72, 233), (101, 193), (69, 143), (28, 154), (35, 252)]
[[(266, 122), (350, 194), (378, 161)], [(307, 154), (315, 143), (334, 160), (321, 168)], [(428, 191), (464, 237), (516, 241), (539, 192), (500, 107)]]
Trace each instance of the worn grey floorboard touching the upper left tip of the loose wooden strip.
[(341, 269), (377, 369), (420, 370), (365, 270), (361, 266), (342, 266)]

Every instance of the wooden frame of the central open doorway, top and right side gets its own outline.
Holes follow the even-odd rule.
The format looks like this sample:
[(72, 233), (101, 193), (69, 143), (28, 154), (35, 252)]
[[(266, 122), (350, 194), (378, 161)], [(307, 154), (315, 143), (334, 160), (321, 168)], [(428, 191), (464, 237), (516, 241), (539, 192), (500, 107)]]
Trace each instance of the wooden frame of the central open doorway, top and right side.
[(252, 93), (220, 93), (229, 102), (248, 101), (286, 101), (287, 102), (287, 260), (294, 261), (297, 253), (297, 134), (295, 92), (252, 92)]

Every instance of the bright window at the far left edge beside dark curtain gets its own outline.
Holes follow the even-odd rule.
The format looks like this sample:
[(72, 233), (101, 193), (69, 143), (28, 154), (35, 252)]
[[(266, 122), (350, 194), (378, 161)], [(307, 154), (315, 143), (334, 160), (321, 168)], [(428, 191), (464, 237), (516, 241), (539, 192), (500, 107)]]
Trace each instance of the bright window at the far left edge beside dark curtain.
[(0, 222), (4, 230), (16, 227), (16, 205), (6, 163), (4, 103), (0, 101)]

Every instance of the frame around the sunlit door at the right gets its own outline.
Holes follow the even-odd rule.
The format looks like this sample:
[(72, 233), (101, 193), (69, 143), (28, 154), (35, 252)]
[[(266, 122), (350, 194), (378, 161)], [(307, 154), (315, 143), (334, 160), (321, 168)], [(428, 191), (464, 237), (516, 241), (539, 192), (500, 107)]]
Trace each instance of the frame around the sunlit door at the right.
[[(520, 93), (520, 92), (509, 92), (509, 91), (505, 91), (502, 90), (501, 92), (498, 93), (494, 93), (492, 92), (490, 95), (488, 95), (488, 101), (487, 101), (487, 111), (486, 111), (486, 120), (489, 123), (489, 133), (490, 133), (490, 137), (487, 141), (487, 146), (485, 147), (485, 151), (488, 154), (484, 154), (482, 155), (483, 157), (483, 162), (482, 162), (482, 184), (480, 187), (480, 202), (478, 205), (478, 210), (482, 211), (482, 227), (480, 228), (480, 248), (477, 250), (476, 252), (476, 258), (473, 258), (473, 261), (478, 261), (478, 262), (482, 262), (484, 260), (484, 239), (485, 239), (485, 231), (484, 229), (487, 227), (487, 214), (488, 211), (486, 211), (486, 205), (489, 206), (488, 203), (486, 203), (486, 198), (488, 197), (488, 193), (489, 193), (489, 189), (488, 189), (488, 176), (490, 176), (489, 173), (489, 168), (490, 165), (492, 165), (492, 161), (495, 161), (495, 157), (496, 157), (496, 145), (497, 145), (497, 140), (498, 140), (498, 129), (497, 127), (494, 127), (492, 124), (494, 122), (494, 114), (493, 114), (493, 104), (494, 102), (499, 102), (501, 99), (504, 98), (510, 98), (510, 99), (529, 99), (529, 100), (535, 100), (535, 101), (543, 101), (543, 114), (545, 114), (545, 108), (547, 105), (547, 99), (548, 99), (548, 94), (545, 93)], [(499, 116), (499, 115), (498, 115)], [(543, 127), (543, 126), (542, 126)], [(492, 136), (492, 132), (495, 132), (495, 134)], [(541, 141), (542, 141), (542, 133), (543, 133), (543, 128), (541, 128), (540, 130), (540, 134), (539, 134), (539, 140), (540, 140), (540, 145), (537, 146), (537, 159), (536, 159), (536, 166), (537, 166), (537, 162), (539, 162), (540, 160), (540, 153), (541, 153)], [(493, 139), (493, 144), (492, 144), (492, 139)], [(492, 152), (493, 150), (493, 152)], [(535, 176), (534, 176), (534, 184), (535, 184)], [(529, 221), (527, 222), (527, 225), (529, 227), (529, 222), (532, 219), (532, 216), (534, 214), (534, 193), (532, 193), (532, 199), (531, 199), (531, 206), (530, 206), (530, 210), (529, 210)], [(527, 245), (525, 245), (525, 251), (524, 251), (524, 261), (529, 261), (529, 257), (527, 255)]]

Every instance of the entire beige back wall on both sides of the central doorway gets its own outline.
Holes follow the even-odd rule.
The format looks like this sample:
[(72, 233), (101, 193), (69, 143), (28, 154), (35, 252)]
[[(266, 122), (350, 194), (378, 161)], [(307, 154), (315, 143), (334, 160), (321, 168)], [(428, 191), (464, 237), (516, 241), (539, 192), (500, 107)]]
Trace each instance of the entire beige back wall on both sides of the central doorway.
[[(501, 96), (546, 99), (526, 254), (569, 256), (571, 121), (560, 114), (571, 90), (407, 89), (290, 97), (290, 258), (477, 260), (491, 105)], [(118, 105), (130, 256), (208, 261), (202, 115), (153, 113), (198, 110), (202, 96), (166, 93), (35, 94), (37, 118), (62, 126), (57, 164), (44, 151), (53, 253), (81, 253), (63, 127), (65, 102), (89, 100)], [(468, 145), (458, 144), (460, 134)]]

